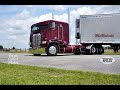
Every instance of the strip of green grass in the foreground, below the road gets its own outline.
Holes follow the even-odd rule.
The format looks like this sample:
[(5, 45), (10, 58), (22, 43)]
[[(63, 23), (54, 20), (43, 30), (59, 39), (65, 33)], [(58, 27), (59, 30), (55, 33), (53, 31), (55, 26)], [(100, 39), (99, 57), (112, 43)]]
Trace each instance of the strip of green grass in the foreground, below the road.
[(0, 85), (120, 85), (120, 75), (0, 63)]

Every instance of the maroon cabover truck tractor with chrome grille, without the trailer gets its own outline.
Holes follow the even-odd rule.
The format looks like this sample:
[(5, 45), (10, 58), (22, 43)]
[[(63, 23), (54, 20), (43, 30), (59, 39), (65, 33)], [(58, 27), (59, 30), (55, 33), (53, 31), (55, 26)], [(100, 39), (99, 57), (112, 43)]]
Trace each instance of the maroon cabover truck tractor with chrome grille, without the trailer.
[(30, 52), (34, 55), (46, 53), (53, 56), (57, 53), (79, 54), (82, 45), (69, 45), (69, 24), (47, 20), (33, 24), (30, 33)]

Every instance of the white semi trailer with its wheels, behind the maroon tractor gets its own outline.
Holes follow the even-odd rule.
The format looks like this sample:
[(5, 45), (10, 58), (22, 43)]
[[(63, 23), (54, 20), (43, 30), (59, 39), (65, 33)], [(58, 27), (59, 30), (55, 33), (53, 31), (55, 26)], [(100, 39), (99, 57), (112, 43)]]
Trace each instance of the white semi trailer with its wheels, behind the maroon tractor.
[[(76, 44), (82, 44), (90, 54), (102, 54), (102, 45), (120, 46), (120, 14), (80, 15), (76, 19)], [(86, 50), (80, 50), (86, 51)]]

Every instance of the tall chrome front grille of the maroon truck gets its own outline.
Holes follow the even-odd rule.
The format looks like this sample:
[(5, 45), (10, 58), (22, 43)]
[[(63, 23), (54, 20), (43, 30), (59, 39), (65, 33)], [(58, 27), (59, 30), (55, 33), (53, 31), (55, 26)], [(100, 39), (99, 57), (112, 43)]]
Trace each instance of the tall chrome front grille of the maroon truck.
[(37, 34), (33, 34), (33, 48), (39, 48), (41, 44), (41, 34), (37, 33)]

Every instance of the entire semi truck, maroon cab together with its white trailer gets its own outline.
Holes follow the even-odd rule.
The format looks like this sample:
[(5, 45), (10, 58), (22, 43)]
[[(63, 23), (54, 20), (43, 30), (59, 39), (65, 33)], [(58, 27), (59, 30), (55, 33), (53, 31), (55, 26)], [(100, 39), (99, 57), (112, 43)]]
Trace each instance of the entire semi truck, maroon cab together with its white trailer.
[[(120, 14), (80, 15), (75, 22), (76, 44), (69, 45), (69, 24), (47, 20), (33, 24), (30, 33), (30, 47), (34, 55), (43, 52), (102, 54), (102, 45), (111, 45), (115, 51), (120, 46)], [(72, 27), (72, 26), (71, 26)]]

